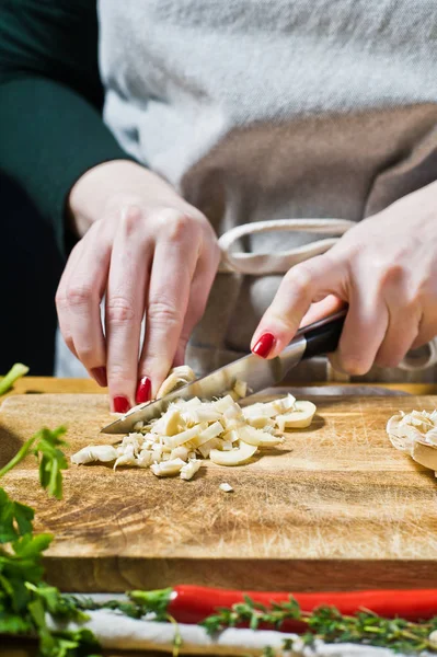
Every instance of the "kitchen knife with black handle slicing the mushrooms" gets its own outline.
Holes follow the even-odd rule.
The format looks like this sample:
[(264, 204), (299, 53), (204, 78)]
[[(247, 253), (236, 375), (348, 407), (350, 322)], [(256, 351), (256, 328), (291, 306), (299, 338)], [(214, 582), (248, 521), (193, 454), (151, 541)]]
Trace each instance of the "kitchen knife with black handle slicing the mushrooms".
[(191, 400), (194, 396), (202, 400), (219, 397), (232, 390), (235, 381), (244, 381), (250, 394), (275, 385), (283, 381), (287, 372), (301, 360), (335, 351), (346, 312), (346, 309), (341, 310), (301, 328), (279, 356), (272, 360), (264, 360), (253, 354), (243, 356), (243, 358), (179, 388), (156, 402), (135, 406), (123, 417), (104, 427), (102, 433), (128, 434), (137, 422), (141, 420), (147, 424), (151, 419), (160, 417), (169, 404), (175, 400)]

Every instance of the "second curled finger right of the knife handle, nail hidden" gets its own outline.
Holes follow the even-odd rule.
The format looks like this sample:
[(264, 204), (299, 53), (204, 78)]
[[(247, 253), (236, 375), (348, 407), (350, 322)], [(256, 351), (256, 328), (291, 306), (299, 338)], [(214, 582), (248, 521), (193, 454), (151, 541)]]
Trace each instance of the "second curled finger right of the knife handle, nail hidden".
[(398, 367), (418, 335), (419, 309), (409, 309), (402, 303), (389, 308), (389, 326), (376, 356), (379, 367)]

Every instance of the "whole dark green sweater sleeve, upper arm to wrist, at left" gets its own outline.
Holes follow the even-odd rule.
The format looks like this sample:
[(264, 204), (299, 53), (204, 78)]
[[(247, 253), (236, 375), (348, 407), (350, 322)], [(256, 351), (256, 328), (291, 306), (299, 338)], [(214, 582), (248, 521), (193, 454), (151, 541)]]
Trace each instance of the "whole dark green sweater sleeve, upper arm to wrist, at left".
[(51, 223), (61, 251), (74, 182), (131, 159), (102, 104), (95, 0), (0, 0), (0, 169)]

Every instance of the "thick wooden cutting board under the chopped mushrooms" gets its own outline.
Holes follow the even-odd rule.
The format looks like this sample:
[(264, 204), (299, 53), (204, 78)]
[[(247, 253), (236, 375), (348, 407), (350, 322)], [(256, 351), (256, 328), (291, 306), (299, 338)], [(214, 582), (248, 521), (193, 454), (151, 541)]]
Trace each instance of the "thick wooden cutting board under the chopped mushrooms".
[[(284, 391), (284, 389), (283, 389)], [(263, 397), (266, 401), (268, 397)], [(251, 463), (212, 463), (192, 482), (72, 466), (65, 498), (39, 489), (28, 457), (4, 480), (56, 535), (48, 578), (64, 590), (175, 584), (246, 589), (437, 587), (437, 481), (394, 450), (387, 419), (437, 397), (322, 397), (310, 429)], [(27, 394), (0, 408), (0, 465), (42, 426), (68, 426), (68, 456), (112, 418), (95, 394)], [(228, 482), (233, 493), (219, 485)]]

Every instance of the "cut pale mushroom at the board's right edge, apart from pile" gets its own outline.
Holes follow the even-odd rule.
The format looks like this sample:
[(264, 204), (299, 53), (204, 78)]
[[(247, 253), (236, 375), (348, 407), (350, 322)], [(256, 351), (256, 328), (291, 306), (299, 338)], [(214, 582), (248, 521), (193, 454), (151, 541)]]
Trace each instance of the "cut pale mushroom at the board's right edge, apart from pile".
[(437, 411), (401, 411), (387, 423), (387, 433), (393, 447), (437, 471)]

